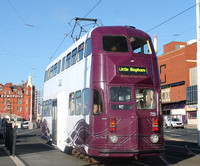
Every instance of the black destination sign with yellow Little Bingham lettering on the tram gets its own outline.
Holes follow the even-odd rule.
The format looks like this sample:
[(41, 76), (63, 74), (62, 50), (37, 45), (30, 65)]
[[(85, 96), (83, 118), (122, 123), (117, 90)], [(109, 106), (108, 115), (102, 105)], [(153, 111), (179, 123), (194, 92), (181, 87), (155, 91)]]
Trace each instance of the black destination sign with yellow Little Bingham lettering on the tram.
[(119, 66), (118, 72), (120, 74), (128, 75), (147, 75), (147, 68), (145, 67), (132, 67), (132, 66)]

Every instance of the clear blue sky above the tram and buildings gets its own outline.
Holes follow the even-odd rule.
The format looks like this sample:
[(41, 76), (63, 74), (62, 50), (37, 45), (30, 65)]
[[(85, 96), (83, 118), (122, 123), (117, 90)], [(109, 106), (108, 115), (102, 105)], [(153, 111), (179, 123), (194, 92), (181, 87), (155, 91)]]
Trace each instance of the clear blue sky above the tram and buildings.
[(34, 75), (33, 84), (42, 89), (49, 57), (55, 59), (73, 44), (70, 35), (65, 38), (72, 30), (68, 23), (84, 17), (98, 2), (87, 18), (100, 19), (104, 26), (135, 26), (152, 41), (156, 33), (158, 56), (171, 41), (196, 38), (196, 7), (152, 29), (196, 0), (0, 0), (0, 83), (20, 84)]

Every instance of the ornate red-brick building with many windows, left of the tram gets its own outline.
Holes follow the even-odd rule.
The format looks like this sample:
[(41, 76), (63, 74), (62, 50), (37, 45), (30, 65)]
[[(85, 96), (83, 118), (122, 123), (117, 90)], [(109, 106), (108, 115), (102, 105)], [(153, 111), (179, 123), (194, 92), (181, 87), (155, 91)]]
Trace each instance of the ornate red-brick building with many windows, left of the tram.
[[(33, 110), (35, 86), (31, 88), (28, 83), (21, 85), (13, 85), (12, 83), (0, 84), (0, 117), (6, 117), (9, 120), (11, 117), (11, 120), (15, 121), (18, 119), (30, 120), (31, 89), (33, 90)], [(34, 117), (34, 114), (32, 117)]]

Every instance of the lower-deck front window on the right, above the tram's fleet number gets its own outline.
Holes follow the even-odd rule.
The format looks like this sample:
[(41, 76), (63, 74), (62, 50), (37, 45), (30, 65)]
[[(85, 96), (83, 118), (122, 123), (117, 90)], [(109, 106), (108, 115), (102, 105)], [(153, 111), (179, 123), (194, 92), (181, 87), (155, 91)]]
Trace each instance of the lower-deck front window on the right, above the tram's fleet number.
[(155, 92), (151, 89), (136, 89), (136, 106), (140, 110), (152, 110), (156, 108)]

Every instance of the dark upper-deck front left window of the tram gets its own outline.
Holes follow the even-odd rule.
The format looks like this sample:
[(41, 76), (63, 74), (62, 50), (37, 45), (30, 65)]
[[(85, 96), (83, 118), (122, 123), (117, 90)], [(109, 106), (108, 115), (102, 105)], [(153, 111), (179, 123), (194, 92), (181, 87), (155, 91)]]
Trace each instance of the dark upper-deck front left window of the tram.
[(125, 36), (103, 36), (103, 50), (108, 52), (128, 52)]

